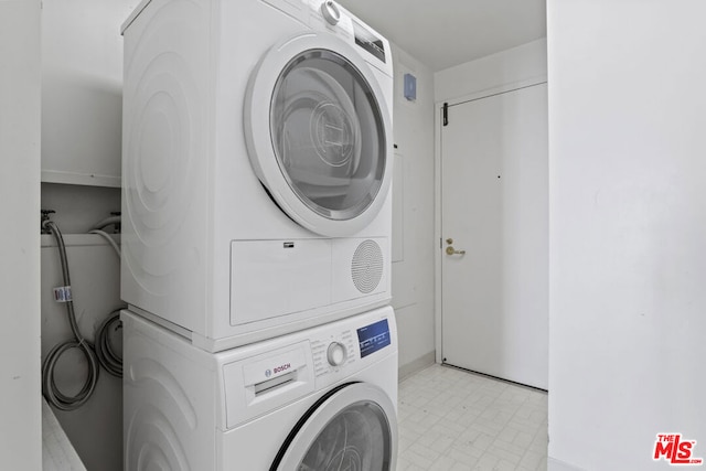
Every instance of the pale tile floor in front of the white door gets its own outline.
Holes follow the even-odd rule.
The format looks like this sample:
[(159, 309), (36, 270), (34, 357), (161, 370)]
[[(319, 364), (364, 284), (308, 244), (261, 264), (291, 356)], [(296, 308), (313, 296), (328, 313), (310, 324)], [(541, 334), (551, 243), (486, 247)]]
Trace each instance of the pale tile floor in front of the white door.
[(398, 471), (547, 468), (547, 394), (449, 366), (399, 384)]

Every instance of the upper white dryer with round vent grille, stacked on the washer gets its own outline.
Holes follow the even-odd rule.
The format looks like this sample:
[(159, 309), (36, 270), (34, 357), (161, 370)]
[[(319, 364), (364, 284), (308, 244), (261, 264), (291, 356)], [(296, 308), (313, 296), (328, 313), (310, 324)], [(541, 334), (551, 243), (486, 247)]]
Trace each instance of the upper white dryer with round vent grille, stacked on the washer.
[(121, 296), (217, 352), (391, 298), (389, 43), (327, 0), (126, 21)]

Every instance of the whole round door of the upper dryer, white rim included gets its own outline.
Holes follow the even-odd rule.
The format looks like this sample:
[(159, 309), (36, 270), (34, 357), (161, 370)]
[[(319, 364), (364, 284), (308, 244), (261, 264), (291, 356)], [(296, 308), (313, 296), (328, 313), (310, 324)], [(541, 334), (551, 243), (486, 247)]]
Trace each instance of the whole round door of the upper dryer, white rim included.
[(244, 110), (253, 168), (285, 213), (324, 236), (366, 227), (392, 179), (392, 117), (371, 66), (331, 34), (270, 49)]

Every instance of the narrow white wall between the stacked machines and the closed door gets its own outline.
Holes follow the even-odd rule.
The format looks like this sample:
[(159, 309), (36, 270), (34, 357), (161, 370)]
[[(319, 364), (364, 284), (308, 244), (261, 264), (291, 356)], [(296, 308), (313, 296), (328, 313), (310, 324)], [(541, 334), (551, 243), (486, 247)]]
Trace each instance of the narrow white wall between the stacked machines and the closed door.
[[(393, 49), (395, 69), (394, 185), (402, 194), (403, 259), (393, 263), (393, 307), (397, 314), (400, 376), (434, 362), (434, 75), (398, 47)], [(403, 95), (404, 75), (417, 77), (417, 99)], [(402, 172), (400, 172), (402, 170)], [(396, 214), (399, 217), (400, 214)]]

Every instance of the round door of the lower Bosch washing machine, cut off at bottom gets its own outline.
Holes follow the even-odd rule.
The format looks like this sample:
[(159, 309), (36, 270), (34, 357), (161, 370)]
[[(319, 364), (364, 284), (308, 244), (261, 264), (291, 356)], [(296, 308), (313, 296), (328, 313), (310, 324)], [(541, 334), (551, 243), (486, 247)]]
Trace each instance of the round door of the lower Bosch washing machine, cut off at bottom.
[(394, 471), (395, 407), (379, 387), (349, 383), (314, 404), (291, 430), (270, 471)]

